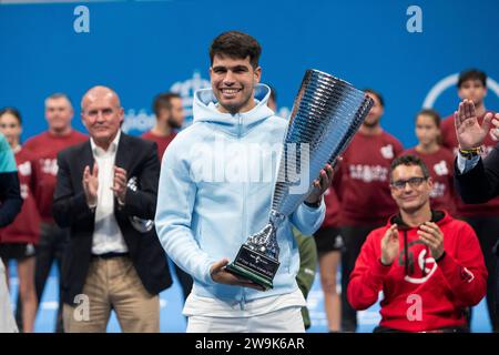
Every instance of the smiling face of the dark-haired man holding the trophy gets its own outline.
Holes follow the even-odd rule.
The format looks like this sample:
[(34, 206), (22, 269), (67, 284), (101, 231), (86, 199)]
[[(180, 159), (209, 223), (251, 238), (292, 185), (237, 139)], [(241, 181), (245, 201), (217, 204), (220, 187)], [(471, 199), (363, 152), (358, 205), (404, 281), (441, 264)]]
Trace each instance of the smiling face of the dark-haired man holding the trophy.
[(220, 103), (220, 111), (235, 114), (254, 108), (255, 84), (259, 82), (262, 69), (254, 69), (249, 57), (245, 59), (215, 54), (210, 68), (212, 90)]

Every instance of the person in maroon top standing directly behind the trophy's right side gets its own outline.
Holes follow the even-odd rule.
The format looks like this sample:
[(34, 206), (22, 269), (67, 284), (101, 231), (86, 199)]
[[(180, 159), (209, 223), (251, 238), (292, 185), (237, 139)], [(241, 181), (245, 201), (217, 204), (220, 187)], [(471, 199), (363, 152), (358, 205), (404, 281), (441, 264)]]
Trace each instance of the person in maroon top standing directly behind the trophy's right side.
[(385, 110), (381, 94), (371, 89), (365, 92), (374, 100), (374, 105), (345, 150), (334, 183), (342, 202), (339, 225), (345, 243), (342, 254), (344, 332), (355, 332), (357, 328), (357, 313), (346, 297), (348, 277), (367, 234), (381, 226), (386, 216), (397, 211), (390, 196), (388, 171), (391, 161), (404, 150), (401, 143), (380, 125)]

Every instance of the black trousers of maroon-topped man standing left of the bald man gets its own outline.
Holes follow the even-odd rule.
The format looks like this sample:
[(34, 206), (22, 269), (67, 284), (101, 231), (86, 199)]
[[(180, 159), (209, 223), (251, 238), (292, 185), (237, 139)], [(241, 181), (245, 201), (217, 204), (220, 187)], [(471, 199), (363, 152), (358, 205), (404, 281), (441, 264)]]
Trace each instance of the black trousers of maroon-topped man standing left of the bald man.
[[(59, 272), (59, 305), (55, 318), (55, 333), (63, 333), (62, 325), (62, 292), (61, 292), (61, 265), (62, 255), (68, 245), (69, 231), (60, 229), (57, 224), (41, 223), (40, 225), (40, 242), (37, 246), (37, 261), (34, 268), (34, 287), (37, 298), (40, 303), (45, 288), (47, 278), (49, 277), (52, 264), (55, 262)], [(16, 321), (20, 329), (22, 329), (22, 304), (18, 297), (16, 306)]]

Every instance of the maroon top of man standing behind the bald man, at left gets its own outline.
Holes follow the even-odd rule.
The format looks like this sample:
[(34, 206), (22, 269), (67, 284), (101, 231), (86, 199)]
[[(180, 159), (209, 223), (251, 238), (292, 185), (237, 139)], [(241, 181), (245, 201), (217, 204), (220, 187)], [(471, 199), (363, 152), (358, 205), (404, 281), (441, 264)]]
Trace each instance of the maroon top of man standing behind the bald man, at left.
[(24, 149), (33, 154), (33, 194), (38, 211), (45, 223), (53, 223), (52, 200), (58, 175), (58, 153), (71, 145), (83, 143), (89, 138), (78, 131), (59, 136), (43, 132), (28, 140)]

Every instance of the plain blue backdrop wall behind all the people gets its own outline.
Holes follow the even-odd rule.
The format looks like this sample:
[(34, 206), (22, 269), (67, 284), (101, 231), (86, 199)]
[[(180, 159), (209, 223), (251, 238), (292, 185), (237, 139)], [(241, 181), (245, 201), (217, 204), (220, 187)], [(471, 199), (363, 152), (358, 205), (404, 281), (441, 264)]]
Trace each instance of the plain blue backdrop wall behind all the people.
[[(316, 68), (380, 91), (383, 124), (406, 146), (416, 143), (414, 115), (431, 89), (462, 69), (489, 74), (486, 105), (499, 108), (497, 0), (51, 1), (0, 0), (0, 106), (21, 110), (24, 139), (45, 129), (43, 99), (60, 91), (73, 99), (74, 125), (84, 131), (79, 102), (98, 83), (120, 94), (132, 134), (153, 123), (157, 92), (181, 92), (189, 112), (193, 90), (207, 84), (208, 45), (230, 29), (261, 42), (263, 81), (281, 106), (292, 106), (304, 71)], [(81, 4), (89, 32), (78, 33)], [(414, 4), (422, 32), (407, 30)], [(456, 109), (454, 83), (448, 78), (434, 95), (442, 115)]]

